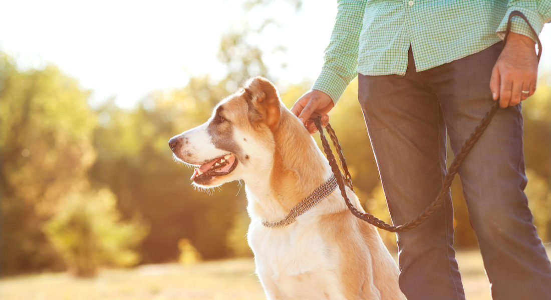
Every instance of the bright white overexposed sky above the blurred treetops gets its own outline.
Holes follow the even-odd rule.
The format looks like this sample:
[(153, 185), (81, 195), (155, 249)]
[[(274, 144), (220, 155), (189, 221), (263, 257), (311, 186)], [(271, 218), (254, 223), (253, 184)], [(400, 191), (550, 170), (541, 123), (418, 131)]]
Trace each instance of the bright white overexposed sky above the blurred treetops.
[[(283, 56), (264, 63), (283, 83), (314, 80), (329, 40), (336, 1), (305, 0), (299, 13), (279, 1), (272, 15), (247, 15), (244, 0), (209, 1), (31, 1), (0, 0), (0, 51), (21, 67), (51, 62), (93, 90), (93, 102), (116, 96), (132, 107), (148, 92), (181, 88), (190, 76), (222, 78), (216, 53), (222, 34), (265, 17), (282, 26), (267, 28), (258, 41)], [(551, 25), (541, 34), (541, 69), (551, 70)], [(287, 68), (281, 69), (285, 62)]]

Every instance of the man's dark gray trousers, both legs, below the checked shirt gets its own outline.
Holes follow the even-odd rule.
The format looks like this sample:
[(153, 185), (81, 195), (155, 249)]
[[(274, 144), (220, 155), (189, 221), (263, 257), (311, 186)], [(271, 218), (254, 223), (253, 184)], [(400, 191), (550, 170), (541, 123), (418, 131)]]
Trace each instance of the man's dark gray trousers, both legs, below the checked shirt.
[[(446, 132), (457, 153), (490, 109), (489, 79), (503, 43), (423, 72), (359, 75), (359, 102), (392, 221), (413, 219), (446, 173)], [(527, 100), (530, 101), (530, 100)], [(523, 192), (521, 106), (500, 110), (459, 171), (494, 299), (551, 299), (551, 265)], [(443, 209), (398, 234), (399, 283), (409, 300), (464, 299), (453, 245), (451, 195)]]

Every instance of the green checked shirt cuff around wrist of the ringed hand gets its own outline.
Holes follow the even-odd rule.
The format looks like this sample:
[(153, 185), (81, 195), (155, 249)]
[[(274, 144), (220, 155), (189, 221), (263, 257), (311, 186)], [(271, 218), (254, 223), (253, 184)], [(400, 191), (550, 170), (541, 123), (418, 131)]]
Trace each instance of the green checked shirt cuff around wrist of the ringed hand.
[[(511, 14), (511, 12), (514, 10), (518, 10), (519, 12), (523, 13), (526, 16), (526, 19), (530, 21), (530, 25), (532, 25), (536, 33), (539, 35), (539, 32), (542, 31), (543, 24), (545, 23), (541, 15), (539, 15), (537, 11), (534, 11), (530, 8), (512, 6), (512, 7), (509, 7), (509, 9), (507, 9), (505, 18), (503, 18), (503, 20), (501, 21), (501, 24), (499, 24), (498, 30), (495, 31), (498, 37), (501, 40), (505, 38), (505, 30), (507, 29), (507, 20), (509, 20), (509, 14)], [(537, 43), (537, 36), (534, 36), (532, 30), (530, 30), (530, 27), (528, 26), (528, 24), (526, 24), (526, 21), (520, 17), (513, 17), (511, 19), (511, 31), (517, 34), (526, 35), (530, 37), (534, 42)]]

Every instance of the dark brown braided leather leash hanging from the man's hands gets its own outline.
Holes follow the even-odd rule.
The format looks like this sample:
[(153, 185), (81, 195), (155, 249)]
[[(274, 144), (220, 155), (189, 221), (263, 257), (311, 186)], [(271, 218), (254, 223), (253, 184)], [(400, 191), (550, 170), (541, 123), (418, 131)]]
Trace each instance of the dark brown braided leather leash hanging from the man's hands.
[[(509, 14), (509, 21), (507, 23), (507, 29), (505, 31), (504, 40), (506, 40), (507, 35), (509, 35), (509, 31), (511, 28), (511, 19), (512, 17), (515, 17), (515, 16), (518, 16), (524, 19), (528, 24), (528, 26), (530, 26), (530, 29), (532, 30), (534, 36), (536, 37), (538, 36), (536, 31), (532, 28), (532, 25), (530, 25), (530, 23), (526, 19), (525, 15), (523, 15), (521, 12), (518, 12), (518, 10), (515, 10), (514, 12), (511, 12), (511, 14)], [(541, 41), (539, 41), (539, 39), (537, 39), (537, 42), (539, 47), (539, 51), (537, 55), (538, 62), (539, 62), (539, 58), (541, 57), (541, 54), (542, 54), (542, 44), (541, 44)], [(316, 124), (317, 130), (320, 132), (323, 151), (327, 156), (327, 160), (329, 161), (329, 165), (331, 166), (331, 171), (333, 171), (333, 174), (337, 179), (337, 184), (339, 186), (339, 189), (341, 189), (341, 195), (344, 198), (344, 201), (348, 206), (348, 209), (352, 212), (352, 214), (358, 217), (359, 219), (364, 220), (370, 223), (371, 225), (377, 226), (383, 230), (390, 231), (390, 232), (405, 232), (405, 231), (412, 230), (413, 228), (422, 224), (426, 219), (428, 219), (431, 215), (433, 215), (434, 212), (437, 209), (439, 209), (440, 206), (442, 206), (442, 204), (444, 204), (444, 201), (446, 200), (446, 196), (449, 193), (453, 178), (457, 174), (459, 167), (466, 159), (467, 155), (473, 148), (474, 144), (478, 141), (480, 136), (484, 133), (484, 130), (486, 130), (486, 128), (490, 124), (491, 119), (495, 116), (495, 113), (498, 112), (498, 110), (499, 110), (499, 100), (495, 101), (494, 106), (491, 107), (490, 111), (488, 111), (484, 116), (484, 118), (482, 118), (480, 123), (478, 123), (478, 126), (474, 129), (473, 133), (465, 141), (465, 143), (461, 147), (461, 150), (457, 153), (457, 155), (453, 159), (450, 167), (447, 170), (447, 174), (444, 177), (444, 182), (442, 182), (442, 187), (440, 188), (440, 192), (438, 193), (438, 196), (433, 201), (433, 203), (431, 203), (428, 206), (428, 208), (426, 208), (413, 220), (398, 226), (387, 224), (384, 221), (375, 217), (374, 215), (369, 214), (369, 212), (360, 211), (359, 209), (354, 207), (354, 205), (348, 199), (345, 191), (345, 185), (352, 190), (354, 189), (352, 188), (352, 178), (350, 177), (350, 173), (348, 172), (348, 166), (346, 164), (346, 161), (344, 160), (344, 155), (342, 153), (341, 145), (338, 142), (337, 135), (335, 134), (331, 125), (327, 124), (326, 129), (329, 134), (329, 137), (331, 137), (331, 140), (333, 141), (333, 145), (335, 146), (335, 149), (339, 156), (339, 160), (341, 161), (341, 167), (343, 169), (344, 176), (343, 174), (341, 174), (341, 170), (339, 170), (339, 166), (337, 165), (337, 161), (335, 159), (335, 156), (333, 155), (333, 151), (331, 150), (331, 147), (329, 146), (329, 143), (325, 135), (323, 134), (323, 128), (321, 126), (321, 117), (317, 117), (316, 119), (314, 119), (314, 123)]]

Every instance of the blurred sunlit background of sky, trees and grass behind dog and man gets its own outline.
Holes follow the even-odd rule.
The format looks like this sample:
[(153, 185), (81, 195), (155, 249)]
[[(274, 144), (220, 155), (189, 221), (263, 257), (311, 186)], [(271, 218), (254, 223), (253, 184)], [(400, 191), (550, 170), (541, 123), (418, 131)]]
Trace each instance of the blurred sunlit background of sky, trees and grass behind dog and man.
[[(262, 299), (244, 190), (194, 190), (168, 139), (255, 75), (290, 107), (320, 72), (336, 11), (316, 0), (0, 1), (0, 298)], [(526, 192), (548, 243), (551, 25), (540, 37), (538, 90), (523, 103)], [(364, 207), (390, 220), (356, 88), (331, 123)], [(467, 297), (489, 299), (459, 181), (452, 194)]]

